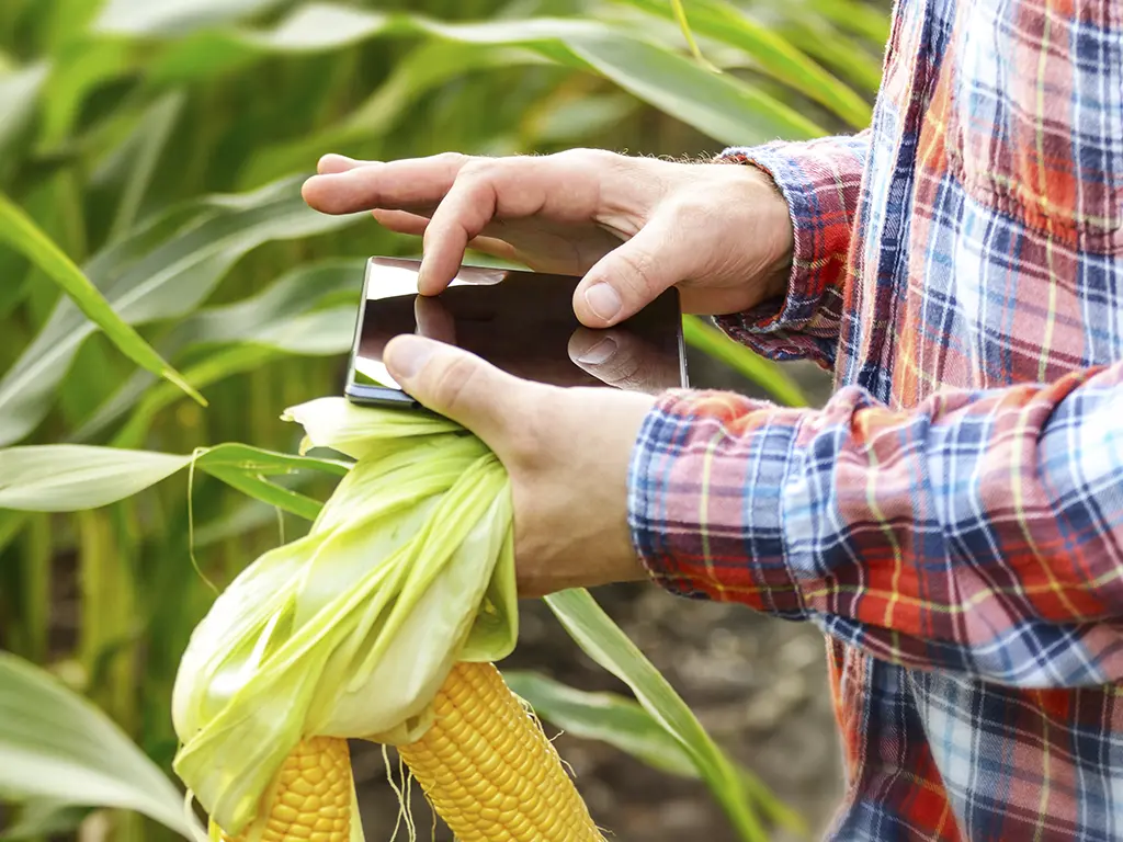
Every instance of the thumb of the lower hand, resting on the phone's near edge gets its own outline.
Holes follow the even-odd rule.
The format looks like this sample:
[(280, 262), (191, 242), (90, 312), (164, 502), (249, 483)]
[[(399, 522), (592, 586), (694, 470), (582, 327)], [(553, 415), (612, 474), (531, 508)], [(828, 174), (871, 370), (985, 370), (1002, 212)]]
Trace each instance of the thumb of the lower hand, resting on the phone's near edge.
[(382, 359), (413, 400), (476, 433), (492, 450), (528, 385), (473, 354), (419, 336), (394, 337)]

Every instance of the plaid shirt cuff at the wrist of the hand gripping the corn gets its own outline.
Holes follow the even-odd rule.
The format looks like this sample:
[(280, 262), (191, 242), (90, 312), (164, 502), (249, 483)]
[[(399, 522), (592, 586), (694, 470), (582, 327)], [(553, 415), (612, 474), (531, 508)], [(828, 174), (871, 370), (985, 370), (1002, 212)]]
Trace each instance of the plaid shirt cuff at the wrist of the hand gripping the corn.
[(797, 421), (797, 411), (728, 392), (659, 397), (628, 483), (632, 542), (656, 583), (681, 596), (807, 616), (783, 531)]

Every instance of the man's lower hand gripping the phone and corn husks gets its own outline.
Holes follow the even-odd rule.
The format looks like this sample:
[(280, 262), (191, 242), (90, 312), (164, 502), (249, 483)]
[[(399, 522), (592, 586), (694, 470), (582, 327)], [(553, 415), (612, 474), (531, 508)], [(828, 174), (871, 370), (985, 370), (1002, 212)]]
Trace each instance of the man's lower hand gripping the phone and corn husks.
[(645, 578), (628, 532), (628, 464), (654, 397), (522, 381), (417, 336), (392, 339), (383, 359), (411, 396), (506, 467), (521, 596)]

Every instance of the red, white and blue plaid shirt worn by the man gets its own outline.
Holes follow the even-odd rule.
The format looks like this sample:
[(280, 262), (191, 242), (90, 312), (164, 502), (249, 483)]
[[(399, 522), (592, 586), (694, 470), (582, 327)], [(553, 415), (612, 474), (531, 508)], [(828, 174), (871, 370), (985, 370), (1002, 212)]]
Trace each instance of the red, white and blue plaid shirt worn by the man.
[(898, 0), (867, 132), (730, 154), (795, 255), (720, 322), (839, 388), (660, 399), (642, 558), (828, 634), (831, 839), (1123, 839), (1123, 0)]

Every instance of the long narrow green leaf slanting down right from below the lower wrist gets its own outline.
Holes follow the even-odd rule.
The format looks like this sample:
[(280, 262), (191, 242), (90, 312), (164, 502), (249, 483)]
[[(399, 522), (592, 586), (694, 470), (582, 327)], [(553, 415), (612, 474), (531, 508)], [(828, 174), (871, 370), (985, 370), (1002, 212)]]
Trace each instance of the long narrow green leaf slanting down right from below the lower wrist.
[(636, 699), (690, 756), (730, 822), (745, 840), (765, 842), (760, 820), (742, 798), (739, 771), (714, 744), (690, 706), (663, 674), (584, 589), (545, 597), (546, 604), (585, 653), (631, 687)]

